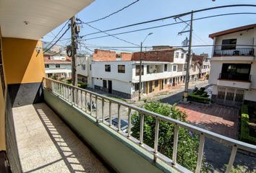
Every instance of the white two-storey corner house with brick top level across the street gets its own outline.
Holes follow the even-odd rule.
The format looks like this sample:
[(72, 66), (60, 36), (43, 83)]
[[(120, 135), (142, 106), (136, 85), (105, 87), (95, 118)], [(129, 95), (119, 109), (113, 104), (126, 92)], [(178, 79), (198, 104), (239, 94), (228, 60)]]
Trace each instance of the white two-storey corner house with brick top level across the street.
[[(183, 83), (186, 56), (182, 48), (142, 52), (142, 93), (159, 92)], [(91, 67), (91, 87), (129, 99), (138, 96), (140, 52), (95, 50)]]

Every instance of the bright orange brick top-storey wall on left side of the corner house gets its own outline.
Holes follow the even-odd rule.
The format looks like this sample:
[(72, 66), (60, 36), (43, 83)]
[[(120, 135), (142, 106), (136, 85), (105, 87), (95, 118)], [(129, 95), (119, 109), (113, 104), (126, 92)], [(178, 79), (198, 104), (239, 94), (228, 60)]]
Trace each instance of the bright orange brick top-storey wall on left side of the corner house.
[(116, 61), (116, 52), (95, 49), (93, 53), (93, 61)]

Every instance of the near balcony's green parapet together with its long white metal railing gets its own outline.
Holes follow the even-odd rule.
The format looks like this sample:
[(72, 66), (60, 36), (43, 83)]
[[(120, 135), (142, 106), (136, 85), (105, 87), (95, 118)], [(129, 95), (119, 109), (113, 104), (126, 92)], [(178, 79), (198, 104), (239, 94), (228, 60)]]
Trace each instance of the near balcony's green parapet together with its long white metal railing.
[[(226, 172), (230, 172), (237, 150), (256, 153), (256, 146), (248, 143), (236, 141), (76, 86), (45, 79), (43, 90), (47, 105), (119, 172), (200, 172), (207, 138), (218, 142), (220, 145), (231, 147), (231, 155), (228, 163), (226, 163), (228, 164)], [(96, 109), (93, 109), (93, 105)], [(135, 112), (141, 114), (140, 138), (132, 136), (132, 115)], [(145, 135), (143, 122), (146, 116), (155, 120), (155, 137), (152, 139), (153, 148), (147, 146), (143, 141)], [(112, 124), (113, 119), (117, 120), (116, 125)], [(121, 121), (124, 119), (128, 123), (125, 131), (121, 128)], [(174, 124), (175, 127), (171, 158), (158, 152), (160, 121)], [(200, 136), (195, 170), (188, 170), (182, 166), (182, 163), (177, 162), (179, 130), (181, 128)]]

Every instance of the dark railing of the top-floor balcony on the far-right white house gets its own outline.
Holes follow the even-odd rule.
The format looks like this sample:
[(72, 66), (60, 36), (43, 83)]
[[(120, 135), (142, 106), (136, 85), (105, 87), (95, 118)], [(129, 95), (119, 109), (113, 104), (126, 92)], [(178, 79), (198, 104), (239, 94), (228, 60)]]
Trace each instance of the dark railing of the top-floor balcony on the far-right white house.
[(232, 50), (214, 50), (213, 56), (254, 56), (254, 49), (237, 48)]

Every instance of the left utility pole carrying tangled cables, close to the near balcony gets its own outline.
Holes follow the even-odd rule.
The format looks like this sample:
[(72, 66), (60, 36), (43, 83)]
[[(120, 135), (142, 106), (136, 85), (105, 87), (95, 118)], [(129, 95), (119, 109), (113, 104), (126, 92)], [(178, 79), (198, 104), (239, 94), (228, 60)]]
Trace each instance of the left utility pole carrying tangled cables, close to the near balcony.
[(76, 70), (76, 56), (77, 56), (77, 33), (75, 17), (71, 21), (71, 51), (72, 51), (72, 85), (77, 86), (77, 70)]

